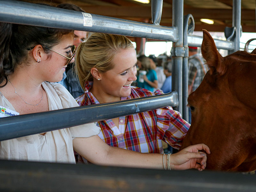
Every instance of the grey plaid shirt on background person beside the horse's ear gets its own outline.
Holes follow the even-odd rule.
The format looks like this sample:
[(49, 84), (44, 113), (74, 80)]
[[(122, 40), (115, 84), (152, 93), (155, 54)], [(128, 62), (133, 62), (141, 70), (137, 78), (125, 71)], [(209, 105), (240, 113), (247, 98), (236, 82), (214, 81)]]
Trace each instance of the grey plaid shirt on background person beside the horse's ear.
[(188, 85), (192, 85), (194, 82), (192, 91), (197, 89), (208, 71), (208, 67), (204, 63), (204, 58), (199, 53), (188, 58)]

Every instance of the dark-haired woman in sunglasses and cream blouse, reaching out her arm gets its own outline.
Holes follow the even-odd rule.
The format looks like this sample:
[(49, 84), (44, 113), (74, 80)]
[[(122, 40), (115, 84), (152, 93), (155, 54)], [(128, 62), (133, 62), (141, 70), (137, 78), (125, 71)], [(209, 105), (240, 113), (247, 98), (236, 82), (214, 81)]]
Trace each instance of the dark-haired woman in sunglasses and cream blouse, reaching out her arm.
[[(62, 85), (49, 83), (60, 81), (73, 60), (74, 32), (9, 23), (0, 23), (0, 27), (1, 108), (22, 115), (78, 106)], [(183, 158), (177, 159), (174, 154), (167, 161), (160, 154), (110, 147), (99, 138), (99, 132), (100, 128), (91, 123), (1, 141), (0, 158), (76, 163), (74, 149), (95, 164), (203, 170), (206, 154), (198, 150), (210, 153), (206, 145), (200, 144), (181, 151)]]

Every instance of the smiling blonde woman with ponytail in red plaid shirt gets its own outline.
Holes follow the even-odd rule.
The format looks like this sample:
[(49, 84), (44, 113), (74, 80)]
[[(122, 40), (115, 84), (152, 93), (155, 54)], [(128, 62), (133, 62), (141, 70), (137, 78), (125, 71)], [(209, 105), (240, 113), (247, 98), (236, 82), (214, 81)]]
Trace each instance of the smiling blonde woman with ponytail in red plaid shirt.
[[(131, 86), (136, 80), (136, 52), (125, 36), (93, 34), (76, 52), (76, 72), (85, 93), (80, 106), (163, 94)], [(172, 107), (97, 122), (109, 146), (142, 153), (164, 153), (162, 140), (179, 149), (190, 124)], [(81, 156), (78, 161), (81, 161)], [(83, 161), (83, 160), (82, 160)]]

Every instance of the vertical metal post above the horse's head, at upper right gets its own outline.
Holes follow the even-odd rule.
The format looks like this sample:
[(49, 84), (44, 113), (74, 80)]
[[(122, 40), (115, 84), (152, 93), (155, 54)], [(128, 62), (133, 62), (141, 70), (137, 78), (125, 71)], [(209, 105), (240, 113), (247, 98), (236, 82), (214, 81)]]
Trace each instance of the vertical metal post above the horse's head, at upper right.
[(234, 38), (235, 49), (234, 52), (240, 48), (240, 37), (241, 37), (241, 0), (233, 0), (233, 18), (232, 26), (236, 27), (236, 36)]

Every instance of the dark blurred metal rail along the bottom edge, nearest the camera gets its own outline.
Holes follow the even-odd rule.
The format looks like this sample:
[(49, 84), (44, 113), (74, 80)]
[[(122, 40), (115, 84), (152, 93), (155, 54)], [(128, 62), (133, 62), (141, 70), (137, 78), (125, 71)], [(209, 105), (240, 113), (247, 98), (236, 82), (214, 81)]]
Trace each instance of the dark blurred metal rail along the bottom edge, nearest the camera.
[(0, 160), (0, 191), (256, 191), (254, 175)]

